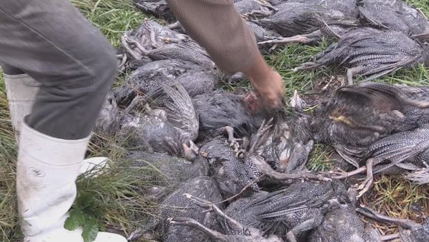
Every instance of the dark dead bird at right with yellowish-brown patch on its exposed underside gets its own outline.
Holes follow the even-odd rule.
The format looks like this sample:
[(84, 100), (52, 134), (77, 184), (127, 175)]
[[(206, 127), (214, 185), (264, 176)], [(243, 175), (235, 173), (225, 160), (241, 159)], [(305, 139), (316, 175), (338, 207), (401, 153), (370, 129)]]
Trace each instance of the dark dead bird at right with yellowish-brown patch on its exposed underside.
[(311, 122), (316, 142), (329, 143), (355, 167), (366, 148), (392, 133), (427, 124), (429, 87), (362, 82), (320, 100)]

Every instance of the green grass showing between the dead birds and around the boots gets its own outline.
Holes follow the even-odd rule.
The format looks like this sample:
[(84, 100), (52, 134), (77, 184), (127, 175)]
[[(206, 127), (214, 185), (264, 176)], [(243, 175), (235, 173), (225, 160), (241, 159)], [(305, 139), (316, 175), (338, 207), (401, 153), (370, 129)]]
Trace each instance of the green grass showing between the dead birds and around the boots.
[[(120, 46), (120, 37), (124, 31), (138, 27), (145, 18), (155, 19), (143, 14), (131, 0), (71, 0), (71, 2), (109, 39), (114, 47)], [(429, 1), (410, 0), (409, 2), (429, 15)], [(322, 41), (316, 46), (289, 44), (279, 46), (273, 53), (264, 55), (268, 64), (274, 66), (284, 78), (287, 97), (293, 93), (294, 89), (297, 89), (300, 95), (306, 95), (318, 92), (320, 89), (331, 90), (347, 82), (345, 78), (346, 69), (341, 67), (321, 66), (313, 70), (293, 71), (293, 68), (300, 66), (303, 62), (312, 61), (313, 55), (316, 55), (329, 44), (327, 41)], [(118, 76), (115, 86), (122, 82), (125, 74)], [(0, 241), (9, 242), (17, 241), (17, 237), (14, 237), (17, 222), (15, 213), (17, 149), (10, 125), (4, 82), (1, 78), (0, 73)], [(362, 78), (355, 77), (354, 80), (359, 82)], [(418, 66), (412, 70), (401, 69), (377, 78), (375, 81), (429, 85), (429, 68)], [(237, 86), (250, 87), (246, 80), (239, 84), (224, 87), (232, 90)], [(117, 227), (127, 228), (129, 233), (138, 225), (145, 223), (146, 215), (151, 214), (156, 205), (145, 201), (142, 196), (134, 192), (134, 186), (146, 185), (151, 181), (136, 179), (122, 169), (118, 165), (125, 162), (122, 158), (122, 150), (111, 145), (113, 143), (114, 140), (108, 138), (93, 137), (88, 155), (108, 156), (111, 160), (111, 169), (97, 178), (80, 177), (77, 181), (77, 187), (80, 191), (95, 194), (95, 201), (102, 210), (107, 212), (107, 221)], [(332, 153), (333, 149), (329, 145), (315, 145), (307, 167), (312, 170), (326, 171), (330, 169), (333, 165)], [(152, 171), (142, 169), (138, 172), (144, 175), (145, 172), (150, 173)], [(401, 212), (400, 208), (410, 208), (412, 203), (428, 204), (427, 194), (427, 186), (412, 185), (400, 178), (382, 176), (380, 180), (376, 181), (372, 194), (367, 195), (372, 196), (371, 200), (368, 199), (366, 202), (374, 201), (372, 203), (374, 208), (390, 215), (415, 218), (412, 213)], [(364, 203), (365, 199), (363, 198)], [(423, 208), (426, 212), (429, 211), (427, 205)]]

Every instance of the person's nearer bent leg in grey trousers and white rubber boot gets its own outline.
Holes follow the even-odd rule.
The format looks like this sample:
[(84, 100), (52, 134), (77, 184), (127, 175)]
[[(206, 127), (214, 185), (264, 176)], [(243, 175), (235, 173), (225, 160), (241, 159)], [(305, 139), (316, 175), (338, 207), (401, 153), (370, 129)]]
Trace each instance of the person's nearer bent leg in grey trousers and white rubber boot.
[[(0, 5), (0, 63), (25, 73), (8, 77), (28, 75), (40, 83), (19, 134), (17, 198), (26, 241), (81, 242), (82, 229), (64, 230), (64, 219), (116, 74), (113, 48), (69, 0), (6, 0)], [(99, 233), (98, 241), (127, 240)]]

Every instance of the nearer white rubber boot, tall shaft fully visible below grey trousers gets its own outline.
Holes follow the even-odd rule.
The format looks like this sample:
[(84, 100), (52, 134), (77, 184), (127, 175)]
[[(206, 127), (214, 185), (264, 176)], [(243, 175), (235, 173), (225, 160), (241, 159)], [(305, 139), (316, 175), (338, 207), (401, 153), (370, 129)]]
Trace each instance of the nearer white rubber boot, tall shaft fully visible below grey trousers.
[[(89, 137), (62, 140), (21, 122), (17, 160), (18, 212), (25, 242), (83, 242), (82, 229), (64, 229), (75, 201)], [(94, 242), (127, 242), (118, 234), (99, 232)]]

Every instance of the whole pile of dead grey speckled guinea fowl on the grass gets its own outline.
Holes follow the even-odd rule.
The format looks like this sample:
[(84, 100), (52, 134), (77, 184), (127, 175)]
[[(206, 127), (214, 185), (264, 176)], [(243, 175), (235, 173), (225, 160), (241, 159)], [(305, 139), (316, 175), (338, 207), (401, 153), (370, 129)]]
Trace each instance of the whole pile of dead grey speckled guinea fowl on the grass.
[[(170, 25), (145, 20), (124, 33), (119, 71), (131, 73), (95, 127), (127, 148), (130, 174), (149, 166), (163, 174), (138, 191), (159, 206), (130, 241), (429, 241), (429, 218), (419, 224), (357, 204), (378, 174), (429, 183), (429, 86), (352, 84), (356, 74), (371, 80), (426, 64), (429, 22), (419, 10), (399, 0), (235, 1), (261, 51), (329, 37), (334, 44), (297, 69), (351, 67), (351, 85), (315, 104), (295, 92), (289, 108), (268, 111), (251, 90), (220, 88), (243, 75), (222, 73), (165, 1), (135, 2)], [(349, 166), (309, 171), (316, 144), (332, 145)], [(358, 185), (345, 180), (361, 174)], [(401, 229), (382, 236), (358, 214)]]

